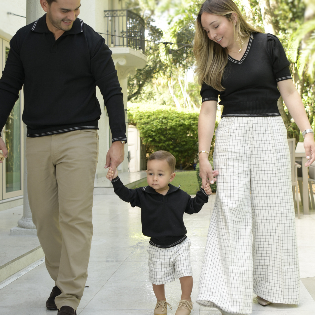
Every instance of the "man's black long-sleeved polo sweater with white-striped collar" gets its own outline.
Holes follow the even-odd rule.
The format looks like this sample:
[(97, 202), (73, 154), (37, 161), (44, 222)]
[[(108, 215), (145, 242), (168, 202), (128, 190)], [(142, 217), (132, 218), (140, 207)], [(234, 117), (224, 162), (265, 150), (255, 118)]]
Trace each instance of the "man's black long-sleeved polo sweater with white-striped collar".
[(123, 94), (105, 40), (77, 18), (57, 40), (46, 14), (22, 27), (10, 41), (0, 79), (0, 130), (24, 84), (23, 122), (28, 137), (98, 129), (104, 97), (112, 141), (126, 141)]

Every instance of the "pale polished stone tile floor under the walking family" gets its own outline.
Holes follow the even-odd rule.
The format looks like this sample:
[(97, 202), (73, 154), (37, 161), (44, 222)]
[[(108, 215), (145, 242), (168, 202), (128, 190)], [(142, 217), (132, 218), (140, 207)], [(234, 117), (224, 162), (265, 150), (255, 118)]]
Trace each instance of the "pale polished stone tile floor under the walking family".
[[(192, 241), (193, 301), (198, 293), (203, 251), (214, 200), (215, 195), (209, 198), (209, 203), (198, 214), (184, 216), (187, 235)], [(6, 211), (11, 220), (10, 213), (15, 215), (21, 209), (17, 207)], [(311, 296), (315, 292), (315, 212), (308, 216), (302, 215), (301, 220), (296, 220), (296, 223), (301, 278), (307, 278), (305, 285), (301, 282), (300, 304), (272, 304), (263, 307), (253, 295), (253, 315), (315, 314), (315, 301)], [(132, 208), (116, 195), (95, 195), (93, 224), (94, 236), (86, 283), (88, 287), (84, 290), (77, 314), (153, 314), (156, 299), (152, 285), (148, 282), (148, 238), (141, 233), (140, 209)], [(21, 242), (20, 246), (29, 246), (27, 242), (22, 243), (20, 238), (17, 240)], [(56, 311), (45, 308), (53, 286), (54, 281), (49, 277), (45, 264), (37, 266), (0, 289), (0, 315), (57, 315)], [(173, 306), (168, 314), (174, 315), (176, 303), (180, 300), (180, 282), (177, 280), (166, 284), (165, 289), (167, 300)], [(192, 315), (221, 314), (215, 308), (201, 307), (196, 303), (193, 307)]]

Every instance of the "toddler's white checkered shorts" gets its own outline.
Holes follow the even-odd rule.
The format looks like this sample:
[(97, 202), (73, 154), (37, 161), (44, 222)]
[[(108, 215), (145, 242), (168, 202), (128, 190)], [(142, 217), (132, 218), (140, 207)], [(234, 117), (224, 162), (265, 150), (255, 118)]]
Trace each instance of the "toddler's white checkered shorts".
[(186, 238), (181, 243), (160, 248), (149, 245), (149, 281), (153, 284), (165, 284), (175, 281), (175, 278), (192, 276), (190, 263), (191, 241)]

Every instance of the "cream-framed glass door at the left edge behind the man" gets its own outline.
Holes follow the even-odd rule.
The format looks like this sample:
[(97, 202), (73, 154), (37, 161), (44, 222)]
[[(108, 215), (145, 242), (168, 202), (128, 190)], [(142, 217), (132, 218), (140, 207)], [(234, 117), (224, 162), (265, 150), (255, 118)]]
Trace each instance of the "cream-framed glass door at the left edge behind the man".
[[(8, 58), (9, 42), (3, 40), (3, 68)], [(23, 93), (19, 94), (9, 118), (2, 130), (2, 138), (8, 149), (8, 157), (4, 159), (2, 169), (2, 191), (3, 199), (20, 196), (23, 194), (22, 173), (23, 173), (23, 145), (21, 145), (21, 102)]]

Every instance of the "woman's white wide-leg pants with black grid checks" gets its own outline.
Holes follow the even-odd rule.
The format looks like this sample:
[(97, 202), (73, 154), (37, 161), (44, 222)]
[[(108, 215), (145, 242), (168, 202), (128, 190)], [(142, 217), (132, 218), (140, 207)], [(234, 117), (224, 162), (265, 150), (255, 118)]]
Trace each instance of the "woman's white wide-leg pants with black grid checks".
[(300, 271), (282, 118), (224, 117), (215, 136), (219, 175), (197, 302), (231, 314), (250, 314), (253, 292), (297, 304)]

